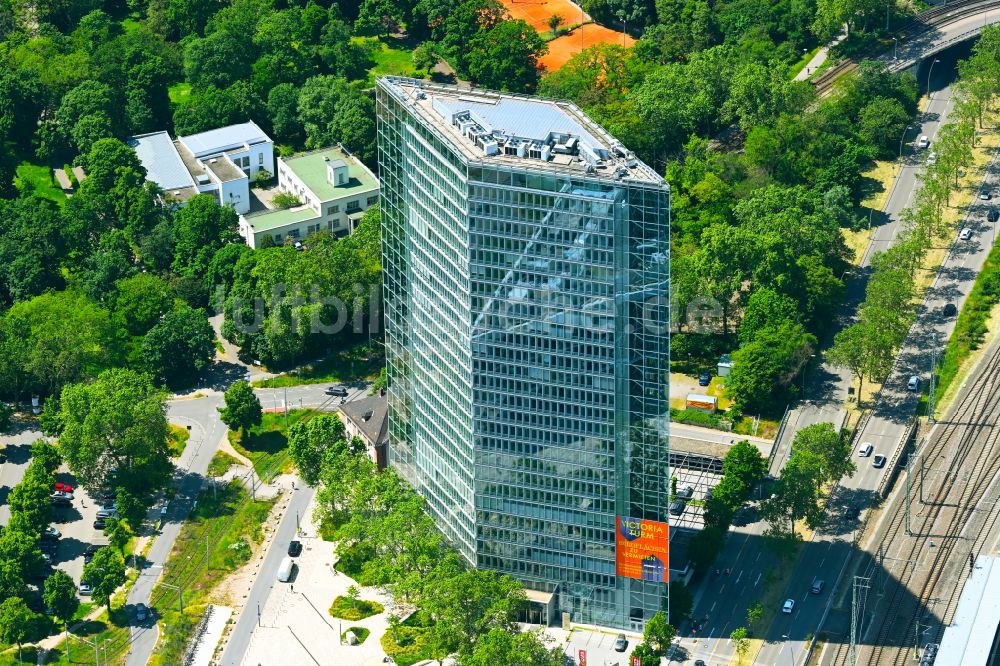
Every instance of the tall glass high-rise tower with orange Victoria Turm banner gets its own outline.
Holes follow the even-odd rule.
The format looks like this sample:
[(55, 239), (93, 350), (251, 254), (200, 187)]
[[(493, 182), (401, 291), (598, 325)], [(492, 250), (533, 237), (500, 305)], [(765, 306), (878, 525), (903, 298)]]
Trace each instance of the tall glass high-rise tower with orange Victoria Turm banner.
[(666, 607), (669, 189), (572, 104), (378, 81), (389, 461), (558, 621)]

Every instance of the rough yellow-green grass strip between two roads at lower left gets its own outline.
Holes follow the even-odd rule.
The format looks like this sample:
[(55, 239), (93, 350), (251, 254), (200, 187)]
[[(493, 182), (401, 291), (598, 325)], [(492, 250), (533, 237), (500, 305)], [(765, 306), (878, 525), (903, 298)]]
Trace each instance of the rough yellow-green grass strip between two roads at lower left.
[[(264, 539), (264, 522), (273, 501), (255, 501), (239, 482), (233, 481), (216, 492), (204, 490), (198, 508), (181, 527), (167, 558), (163, 579), (183, 575), (189, 580), (184, 589), (184, 613), (176, 594), (166, 594), (156, 605), (164, 627), (149, 664), (167, 666), (183, 662), (188, 642), (208, 604), (208, 597), (226, 575), (236, 571), (251, 556), (252, 546)], [(246, 543), (241, 547), (239, 544)], [(234, 547), (235, 546), (235, 547)], [(208, 566), (205, 553), (208, 550)], [(199, 568), (200, 567), (200, 568)], [(153, 598), (168, 592), (157, 587)]]

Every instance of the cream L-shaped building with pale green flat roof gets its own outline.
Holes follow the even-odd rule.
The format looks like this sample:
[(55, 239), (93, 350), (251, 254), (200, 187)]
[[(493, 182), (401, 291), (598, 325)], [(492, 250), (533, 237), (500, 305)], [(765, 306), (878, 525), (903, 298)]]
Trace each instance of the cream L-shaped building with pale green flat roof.
[(295, 196), (291, 208), (243, 215), (240, 233), (250, 247), (270, 237), (281, 245), (317, 231), (346, 235), (378, 202), (379, 182), (360, 160), (336, 146), (278, 158), (278, 188)]

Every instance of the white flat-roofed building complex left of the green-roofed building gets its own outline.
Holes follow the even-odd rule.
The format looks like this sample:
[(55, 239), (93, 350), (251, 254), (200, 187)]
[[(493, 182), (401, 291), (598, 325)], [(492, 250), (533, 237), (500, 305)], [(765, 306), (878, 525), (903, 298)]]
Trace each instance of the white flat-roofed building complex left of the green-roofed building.
[(181, 206), (197, 194), (212, 194), (219, 205), (246, 213), (250, 179), (274, 173), (274, 143), (253, 121), (176, 139), (166, 132), (140, 134), (128, 145), (164, 199)]

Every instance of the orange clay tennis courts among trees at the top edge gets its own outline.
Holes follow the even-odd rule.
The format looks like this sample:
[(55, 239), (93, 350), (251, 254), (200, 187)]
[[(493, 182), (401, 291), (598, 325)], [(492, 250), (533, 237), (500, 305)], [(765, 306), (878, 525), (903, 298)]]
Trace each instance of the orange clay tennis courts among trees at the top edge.
[[(590, 16), (570, 0), (501, 0), (501, 2), (513, 18), (524, 19), (538, 32), (548, 32), (549, 17), (556, 14), (563, 18), (564, 26), (587, 23), (548, 43), (549, 52), (542, 56), (540, 62), (550, 72), (565, 65), (567, 60), (588, 46), (608, 42), (622, 43), (622, 33), (596, 23), (588, 23), (591, 20)], [(626, 36), (624, 43), (626, 46), (632, 46), (635, 40)]]

